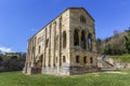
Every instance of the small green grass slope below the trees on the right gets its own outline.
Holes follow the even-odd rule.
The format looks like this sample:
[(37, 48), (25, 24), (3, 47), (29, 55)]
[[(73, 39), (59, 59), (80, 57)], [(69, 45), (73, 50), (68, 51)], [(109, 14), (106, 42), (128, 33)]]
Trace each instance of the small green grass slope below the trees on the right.
[(130, 62), (130, 55), (129, 54), (110, 56), (110, 58), (117, 59), (121, 62)]

